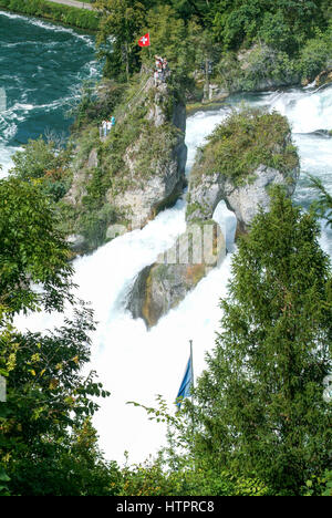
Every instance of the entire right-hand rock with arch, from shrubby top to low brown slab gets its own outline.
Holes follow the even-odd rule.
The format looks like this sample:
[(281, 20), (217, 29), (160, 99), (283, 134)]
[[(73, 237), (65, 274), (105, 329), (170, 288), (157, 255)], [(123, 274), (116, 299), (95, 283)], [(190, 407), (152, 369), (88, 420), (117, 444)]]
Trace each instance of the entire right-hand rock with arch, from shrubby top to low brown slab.
[[(267, 164), (255, 166), (252, 157), (266, 157)], [(259, 207), (269, 209), (269, 187), (282, 185), (290, 196), (299, 172), (284, 117), (251, 110), (231, 114), (200, 149), (191, 169), (187, 231), (134, 282), (127, 304), (133, 317), (142, 318), (148, 328), (155, 325), (222, 261), (226, 240), (212, 220), (219, 201), (235, 213), (238, 232), (246, 232)]]

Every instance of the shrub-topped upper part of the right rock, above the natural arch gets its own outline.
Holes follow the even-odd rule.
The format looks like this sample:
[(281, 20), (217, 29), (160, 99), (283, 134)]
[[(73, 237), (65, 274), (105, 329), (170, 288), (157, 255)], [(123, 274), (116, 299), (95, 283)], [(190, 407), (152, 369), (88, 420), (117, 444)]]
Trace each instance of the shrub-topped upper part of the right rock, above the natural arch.
[[(215, 135), (198, 153), (191, 170), (187, 221), (211, 219), (224, 200), (237, 217), (237, 234), (243, 234), (259, 207), (269, 209), (272, 185), (282, 185), (288, 196), (293, 194), (300, 174), (299, 157), (292, 146), (289, 124), (277, 113), (232, 114)], [(260, 162), (263, 158), (266, 164)]]

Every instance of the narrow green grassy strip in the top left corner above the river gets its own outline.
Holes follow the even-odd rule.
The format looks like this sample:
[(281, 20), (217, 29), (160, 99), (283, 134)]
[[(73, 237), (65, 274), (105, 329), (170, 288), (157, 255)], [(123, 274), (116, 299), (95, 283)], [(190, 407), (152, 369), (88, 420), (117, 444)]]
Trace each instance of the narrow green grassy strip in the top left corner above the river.
[(96, 31), (98, 27), (97, 13), (87, 9), (51, 3), (45, 0), (0, 0), (0, 9), (30, 17), (45, 18), (89, 31)]

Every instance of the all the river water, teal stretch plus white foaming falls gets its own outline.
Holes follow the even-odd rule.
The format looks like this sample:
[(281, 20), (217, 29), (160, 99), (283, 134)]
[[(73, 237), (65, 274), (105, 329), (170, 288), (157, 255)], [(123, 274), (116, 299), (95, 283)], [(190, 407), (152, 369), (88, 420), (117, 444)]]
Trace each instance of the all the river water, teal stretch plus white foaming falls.
[[(90, 37), (54, 25), (45, 27), (39, 21), (6, 17), (3, 22), (4, 17), (0, 13), (0, 24), (7, 28), (8, 39), (3, 41), (1, 25), (0, 59), (8, 59), (6, 50), (2, 55), (7, 43), (9, 49), (15, 44), (20, 49), (15, 64), (8, 59), (10, 73), (2, 63), (7, 77), (4, 86), (11, 86), (8, 89), (9, 110), (4, 115), (0, 113), (0, 163), (4, 160), (8, 164), (12, 147), (20, 146), (28, 137), (38, 136), (46, 125), (66, 130), (63, 100), (73, 94), (72, 86), (76, 89), (82, 79), (94, 75), (96, 71)], [(19, 31), (18, 34), (14, 31)], [(29, 43), (24, 45), (25, 40)], [(65, 55), (68, 45), (70, 51)], [(27, 61), (29, 66), (24, 65)], [(40, 75), (32, 81), (34, 73)], [(301, 156), (295, 203), (308, 207), (315, 197), (308, 173), (320, 177), (332, 194), (332, 139), (315, 133), (332, 128), (332, 87), (234, 96), (228, 106), (217, 112), (196, 113), (187, 121), (187, 173), (197, 146), (227, 116), (229, 105), (237, 105), (243, 99), (250, 105), (278, 110), (292, 125), (293, 139)], [(222, 222), (231, 249), (232, 215), (220, 206), (215, 218)], [(163, 425), (149, 422), (143, 410), (126, 402), (151, 405), (155, 395), (160, 394), (172, 405), (188, 359), (188, 340), (194, 340), (195, 374), (199, 375), (205, 366), (205, 352), (214, 348), (215, 333), (219, 328), (221, 311), (218, 301), (227, 292), (231, 253), (152, 331), (147, 332), (143, 321), (134, 321), (125, 310), (126, 293), (135, 276), (160, 251), (169, 248), (184, 228), (185, 201), (179, 200), (143, 230), (118, 237), (92, 256), (75, 261), (74, 280), (79, 284), (79, 296), (92, 302), (98, 321), (89, 367), (97, 371), (105, 388), (112, 393), (108, 400), (101, 402), (95, 425), (106, 457), (121, 463), (125, 450), (128, 450), (131, 462), (143, 462), (165, 442)], [(331, 238), (322, 222), (321, 244), (332, 256)], [(50, 329), (61, 321), (60, 315), (39, 314), (28, 320), (20, 318), (17, 323), (22, 329), (34, 331)]]

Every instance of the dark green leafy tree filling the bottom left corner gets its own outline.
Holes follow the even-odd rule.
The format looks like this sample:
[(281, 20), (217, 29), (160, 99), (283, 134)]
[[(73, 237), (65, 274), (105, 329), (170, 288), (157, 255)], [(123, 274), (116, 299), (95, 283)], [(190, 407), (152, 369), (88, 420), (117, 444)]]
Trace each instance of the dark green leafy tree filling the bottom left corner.
[[(3, 315), (2, 315), (3, 319)], [(90, 417), (94, 396), (107, 396), (90, 359), (92, 312), (76, 311), (60, 330), (42, 335), (13, 328), (0, 335), (0, 372), (7, 402), (0, 403), (0, 462), (12, 495), (112, 495), (117, 467), (105, 463)], [(93, 478), (91, 478), (93, 477)]]

